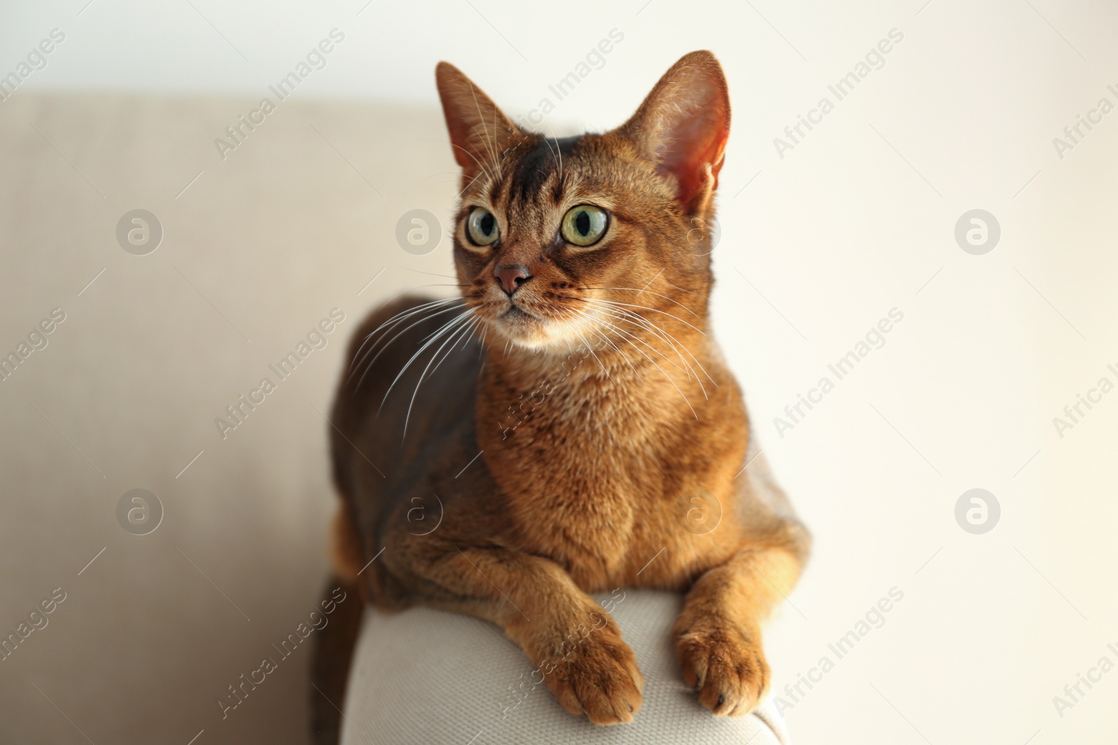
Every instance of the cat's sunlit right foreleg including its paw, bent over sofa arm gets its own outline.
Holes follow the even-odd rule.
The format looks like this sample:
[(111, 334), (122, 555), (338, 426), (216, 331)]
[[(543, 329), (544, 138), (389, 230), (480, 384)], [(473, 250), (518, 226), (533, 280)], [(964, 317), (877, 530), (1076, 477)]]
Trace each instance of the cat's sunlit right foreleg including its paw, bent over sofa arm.
[(717, 715), (754, 710), (768, 688), (761, 621), (792, 591), (800, 561), (781, 547), (747, 546), (688, 593), (672, 629), (683, 679)]

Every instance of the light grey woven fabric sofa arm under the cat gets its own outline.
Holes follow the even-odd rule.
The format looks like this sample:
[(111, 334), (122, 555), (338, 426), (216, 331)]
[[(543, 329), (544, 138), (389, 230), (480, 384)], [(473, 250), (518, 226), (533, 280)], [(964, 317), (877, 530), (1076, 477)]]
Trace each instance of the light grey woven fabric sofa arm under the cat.
[(544, 685), (532, 685), (533, 666), (492, 623), (428, 608), (370, 609), (350, 670), (342, 745), (788, 745), (768, 703), (745, 717), (716, 717), (683, 682), (671, 644), (680, 595), (624, 592), (613, 617), (645, 679), (632, 724), (599, 727), (570, 715)]

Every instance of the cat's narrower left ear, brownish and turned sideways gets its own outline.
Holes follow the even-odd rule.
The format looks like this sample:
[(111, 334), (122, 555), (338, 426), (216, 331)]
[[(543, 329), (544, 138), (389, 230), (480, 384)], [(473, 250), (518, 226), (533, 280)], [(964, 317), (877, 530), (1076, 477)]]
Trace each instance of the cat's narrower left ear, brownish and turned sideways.
[(443, 102), (446, 128), (451, 133), (454, 160), (472, 179), (490, 163), (496, 163), (519, 130), (473, 80), (449, 63), (435, 68), (438, 97)]

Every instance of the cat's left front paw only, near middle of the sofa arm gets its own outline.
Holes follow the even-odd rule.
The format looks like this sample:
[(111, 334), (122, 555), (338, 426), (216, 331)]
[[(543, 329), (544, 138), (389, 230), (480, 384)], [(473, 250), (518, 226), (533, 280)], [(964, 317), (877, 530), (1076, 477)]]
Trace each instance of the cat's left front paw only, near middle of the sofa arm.
[(594, 724), (632, 722), (644, 700), (644, 677), (636, 657), (612, 622), (590, 630), (569, 650), (565, 648), (561, 658), (546, 660), (541, 669), (563, 708), (586, 714)]

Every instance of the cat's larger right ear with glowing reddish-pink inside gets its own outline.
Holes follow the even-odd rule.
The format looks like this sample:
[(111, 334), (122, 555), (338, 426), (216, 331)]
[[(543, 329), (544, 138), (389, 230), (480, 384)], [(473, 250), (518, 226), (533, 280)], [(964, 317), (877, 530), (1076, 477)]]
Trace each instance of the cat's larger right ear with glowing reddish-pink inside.
[(730, 136), (730, 96), (714, 55), (684, 55), (618, 132), (675, 176), (685, 213), (705, 212)]

